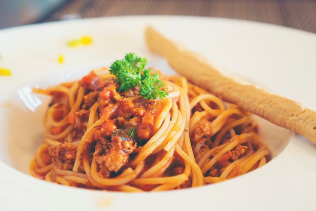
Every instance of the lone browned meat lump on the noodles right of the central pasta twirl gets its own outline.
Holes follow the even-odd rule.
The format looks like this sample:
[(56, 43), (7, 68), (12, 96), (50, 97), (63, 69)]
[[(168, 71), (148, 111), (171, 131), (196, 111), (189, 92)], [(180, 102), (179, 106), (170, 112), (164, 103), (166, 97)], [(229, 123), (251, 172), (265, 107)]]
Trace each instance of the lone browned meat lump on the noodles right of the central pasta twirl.
[(212, 123), (207, 119), (200, 119), (195, 124), (193, 131), (193, 141), (195, 143), (206, 141), (212, 135)]

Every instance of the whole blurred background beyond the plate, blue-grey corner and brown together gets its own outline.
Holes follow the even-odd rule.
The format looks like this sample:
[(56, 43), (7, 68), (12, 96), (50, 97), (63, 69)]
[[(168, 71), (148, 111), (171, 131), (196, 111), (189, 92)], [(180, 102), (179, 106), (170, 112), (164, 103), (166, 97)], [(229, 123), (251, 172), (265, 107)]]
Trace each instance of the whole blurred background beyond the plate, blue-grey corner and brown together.
[(126, 15), (233, 18), (316, 33), (316, 0), (0, 0), (0, 29)]

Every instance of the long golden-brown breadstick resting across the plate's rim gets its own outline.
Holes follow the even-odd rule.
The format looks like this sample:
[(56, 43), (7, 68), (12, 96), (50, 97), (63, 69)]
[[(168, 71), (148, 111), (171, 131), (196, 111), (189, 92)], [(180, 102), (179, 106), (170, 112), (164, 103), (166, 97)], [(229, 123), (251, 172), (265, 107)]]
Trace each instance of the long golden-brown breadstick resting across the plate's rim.
[(152, 52), (166, 58), (172, 68), (195, 85), (316, 144), (316, 111), (227, 76), (201, 56), (174, 43), (151, 26), (145, 29), (145, 41)]

